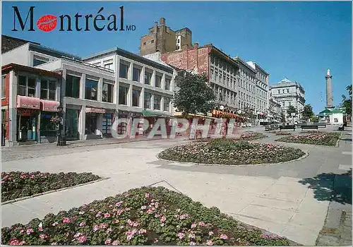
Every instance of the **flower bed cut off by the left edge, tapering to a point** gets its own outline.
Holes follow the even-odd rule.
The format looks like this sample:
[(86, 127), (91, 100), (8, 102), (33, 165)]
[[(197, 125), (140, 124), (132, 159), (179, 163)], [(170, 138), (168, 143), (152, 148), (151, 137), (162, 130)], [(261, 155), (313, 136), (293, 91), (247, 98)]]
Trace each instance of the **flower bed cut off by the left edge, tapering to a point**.
[(76, 186), (80, 183), (88, 183), (97, 179), (100, 179), (100, 176), (92, 173), (1, 172), (1, 200), (5, 202), (6, 200)]

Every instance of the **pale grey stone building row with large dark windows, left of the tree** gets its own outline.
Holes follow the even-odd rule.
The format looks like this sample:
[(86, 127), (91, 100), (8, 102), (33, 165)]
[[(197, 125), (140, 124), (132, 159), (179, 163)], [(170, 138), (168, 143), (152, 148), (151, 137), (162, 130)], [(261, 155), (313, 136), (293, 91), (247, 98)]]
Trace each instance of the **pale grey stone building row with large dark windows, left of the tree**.
[[(64, 108), (66, 121), (63, 132), (67, 140), (109, 138), (112, 136), (115, 118), (133, 119), (143, 116), (146, 110), (150, 115), (173, 116), (171, 100), (174, 92), (174, 70), (123, 49), (111, 49), (81, 59), (27, 43), (6, 52), (2, 59), (7, 63), (17, 61), (27, 68), (32, 67), (47, 71), (46, 73), (59, 73), (60, 83), (55, 84), (54, 100), (56, 107), (61, 104)], [(29, 91), (31, 93), (28, 95), (20, 96), (35, 98), (40, 95), (40, 80), (41, 78), (36, 79), (35, 93)], [(11, 81), (16, 85), (16, 80)], [(32, 80), (26, 83), (32, 87)], [(11, 88), (14, 85), (10, 83), (8, 86)], [(47, 87), (48, 92), (52, 90), (52, 83)], [(8, 101), (15, 100), (18, 104), (17, 91), (14, 89), (11, 92)], [(50, 99), (52, 100), (52, 96)], [(13, 114), (10, 119), (14, 121)], [(118, 131), (126, 132), (127, 128), (128, 126), (120, 126)], [(15, 139), (18, 140), (18, 137), (12, 140)], [(36, 142), (40, 140), (42, 139), (35, 139)]]

